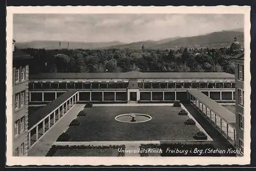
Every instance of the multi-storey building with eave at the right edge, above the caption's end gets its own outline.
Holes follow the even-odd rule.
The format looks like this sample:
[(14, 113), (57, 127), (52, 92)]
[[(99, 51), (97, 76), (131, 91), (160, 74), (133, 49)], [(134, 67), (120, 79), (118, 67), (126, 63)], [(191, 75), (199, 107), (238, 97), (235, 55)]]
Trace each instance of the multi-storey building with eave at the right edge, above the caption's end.
[(241, 154), (244, 154), (244, 53), (233, 57), (236, 63), (236, 127), (237, 142), (236, 146), (240, 148)]

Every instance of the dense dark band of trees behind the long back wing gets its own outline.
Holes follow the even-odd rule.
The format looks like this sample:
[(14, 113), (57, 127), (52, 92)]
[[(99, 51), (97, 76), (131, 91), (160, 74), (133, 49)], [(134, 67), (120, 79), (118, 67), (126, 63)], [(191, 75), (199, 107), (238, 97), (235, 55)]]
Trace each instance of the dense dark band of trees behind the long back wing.
[(54, 72), (227, 72), (234, 74), (231, 56), (240, 53), (220, 49), (23, 49), (34, 57), (30, 73)]

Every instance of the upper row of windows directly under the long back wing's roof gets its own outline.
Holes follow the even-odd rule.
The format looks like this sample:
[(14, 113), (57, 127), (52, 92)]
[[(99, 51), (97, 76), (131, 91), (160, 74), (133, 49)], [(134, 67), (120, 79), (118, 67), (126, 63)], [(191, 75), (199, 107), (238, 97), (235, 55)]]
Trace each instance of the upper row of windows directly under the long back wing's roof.
[[(83, 83), (83, 82), (30, 82), (29, 90), (51, 90), (51, 89), (127, 89), (129, 83)], [(140, 89), (214, 89), (214, 88), (234, 88), (235, 83), (210, 83), (210, 82), (183, 82), (183, 83), (167, 83), (167, 82), (139, 82)]]

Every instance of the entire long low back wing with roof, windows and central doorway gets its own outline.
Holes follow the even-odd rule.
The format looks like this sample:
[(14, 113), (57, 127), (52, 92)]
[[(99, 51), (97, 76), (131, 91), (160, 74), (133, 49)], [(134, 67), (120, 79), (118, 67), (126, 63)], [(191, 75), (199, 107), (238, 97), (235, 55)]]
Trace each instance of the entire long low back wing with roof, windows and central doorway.
[(29, 102), (50, 102), (74, 89), (83, 102), (187, 100), (189, 89), (232, 102), (234, 87), (228, 73), (41, 73), (30, 77)]

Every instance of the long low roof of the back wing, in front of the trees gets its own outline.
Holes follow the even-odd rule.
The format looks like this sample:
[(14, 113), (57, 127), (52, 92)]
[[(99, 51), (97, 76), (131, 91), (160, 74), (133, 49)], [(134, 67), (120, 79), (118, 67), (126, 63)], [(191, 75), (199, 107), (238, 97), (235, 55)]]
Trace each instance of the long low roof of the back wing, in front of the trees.
[(124, 73), (40, 73), (31, 75), (30, 79), (104, 79), (104, 78), (126, 78), (126, 79), (193, 79), (193, 78), (234, 78), (233, 74), (224, 72), (124, 72)]

